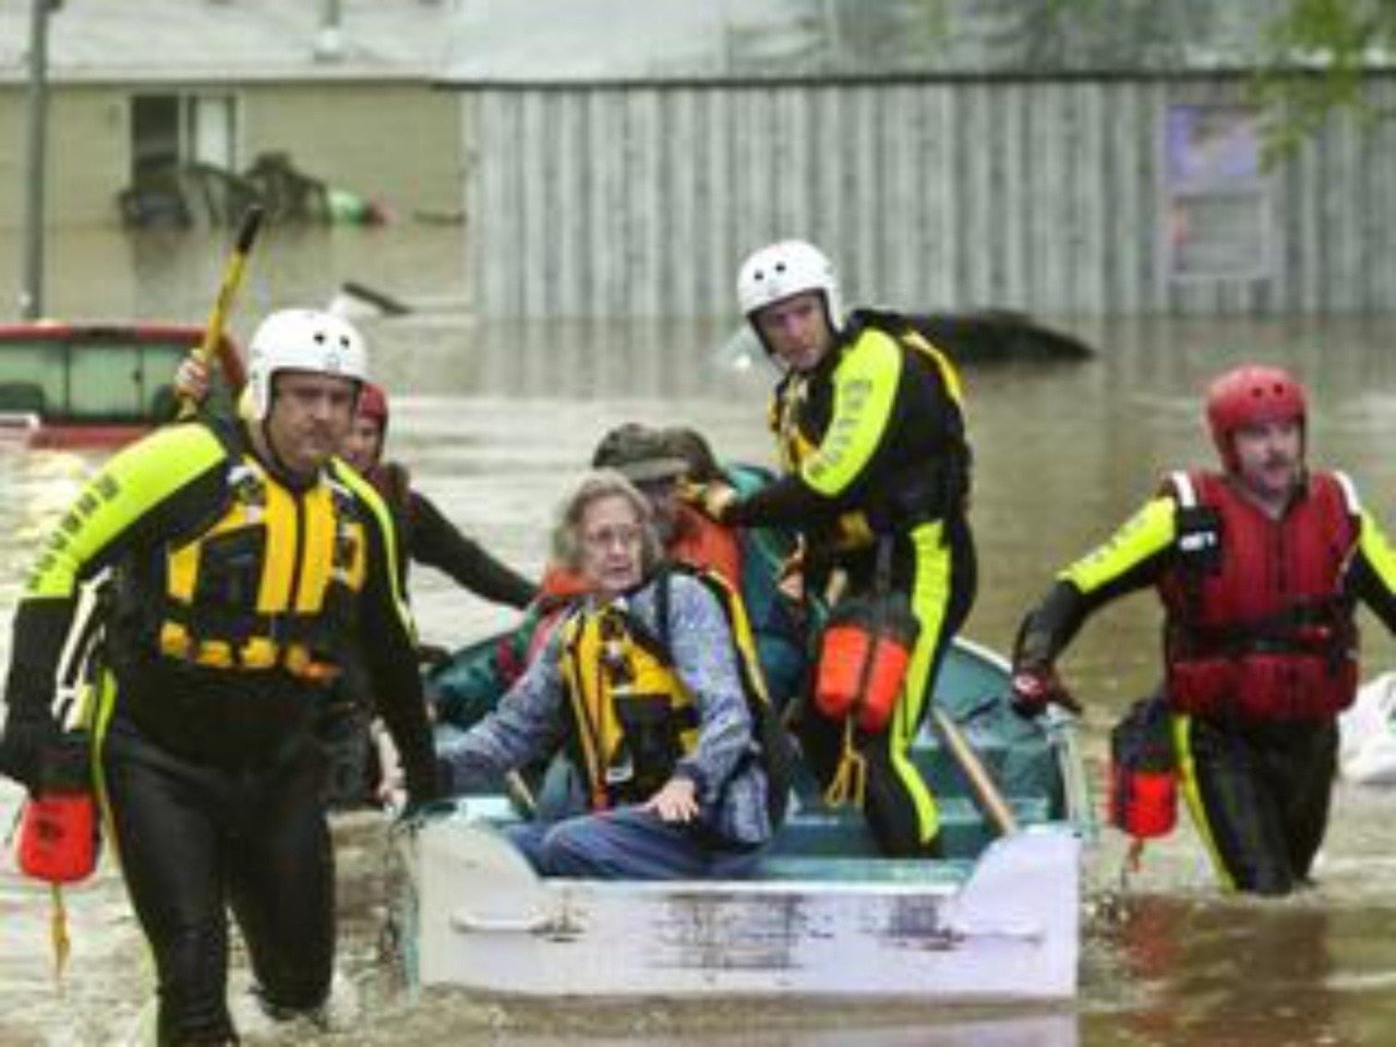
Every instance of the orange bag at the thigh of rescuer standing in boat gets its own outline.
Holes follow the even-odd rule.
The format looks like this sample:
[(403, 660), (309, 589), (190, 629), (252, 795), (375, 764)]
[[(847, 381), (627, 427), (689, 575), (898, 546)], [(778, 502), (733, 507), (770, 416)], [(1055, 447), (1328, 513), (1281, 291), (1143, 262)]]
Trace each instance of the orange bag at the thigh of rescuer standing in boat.
[(854, 596), (829, 611), (819, 644), (814, 704), (829, 719), (853, 716), (861, 730), (886, 726), (906, 680), (920, 623), (895, 593)]

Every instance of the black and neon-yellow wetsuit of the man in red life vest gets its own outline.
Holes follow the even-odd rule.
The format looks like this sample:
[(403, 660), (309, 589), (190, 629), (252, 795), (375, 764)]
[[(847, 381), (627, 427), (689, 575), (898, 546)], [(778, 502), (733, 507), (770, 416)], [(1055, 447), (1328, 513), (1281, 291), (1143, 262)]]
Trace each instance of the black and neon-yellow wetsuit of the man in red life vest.
[[(1283, 588), (1284, 579), (1295, 574), (1283, 550), (1293, 551), (1298, 544), (1291, 518), (1300, 503), (1312, 497), (1309, 491), (1309, 487), (1298, 490), (1290, 511), (1265, 525), (1263, 546), (1270, 550), (1263, 579), (1268, 585), (1262, 586), (1256, 577), (1248, 589)], [(1161, 584), (1187, 586), (1191, 571), (1219, 570), (1189, 563), (1185, 550), (1198, 543), (1188, 540), (1195, 532), (1178, 497), (1170, 489), (1153, 498), (1104, 544), (1058, 575), (1046, 599), (1023, 621), (1013, 655), (1016, 670), (1053, 664), (1086, 618), (1118, 596)], [(1396, 554), (1374, 518), (1356, 504), (1353, 524), (1350, 547), (1336, 557), (1342, 568), (1342, 616), (1350, 624), (1353, 604), (1361, 600), (1396, 631)], [(1234, 556), (1224, 530), (1216, 554)], [(1166, 628), (1171, 625), (1175, 623)], [(1280, 623), (1272, 628), (1279, 630)], [(1287, 649), (1268, 634), (1245, 644), (1238, 637), (1231, 658), (1242, 660), (1262, 641), (1275, 651)], [(1346, 658), (1350, 652), (1340, 653)], [(1280, 690), (1279, 684), (1275, 690)], [(1178, 698), (1170, 695), (1174, 709)], [(1258, 716), (1223, 705), (1210, 712), (1175, 712), (1173, 737), (1184, 796), (1222, 884), (1237, 891), (1283, 895), (1304, 882), (1328, 825), (1337, 758), (1333, 716), (1294, 718), (1282, 711)]]

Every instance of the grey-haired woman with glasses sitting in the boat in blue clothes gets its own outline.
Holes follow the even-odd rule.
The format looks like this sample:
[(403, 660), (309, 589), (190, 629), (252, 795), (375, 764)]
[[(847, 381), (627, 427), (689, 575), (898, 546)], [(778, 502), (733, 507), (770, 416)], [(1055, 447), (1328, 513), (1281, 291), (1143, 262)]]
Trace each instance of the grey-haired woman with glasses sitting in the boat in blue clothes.
[(660, 550), (646, 498), (617, 472), (588, 473), (554, 530), (588, 595), (498, 709), (440, 751), (456, 792), (565, 755), (585, 796), (511, 829), (544, 875), (743, 875), (771, 836), (750, 630), (720, 582)]

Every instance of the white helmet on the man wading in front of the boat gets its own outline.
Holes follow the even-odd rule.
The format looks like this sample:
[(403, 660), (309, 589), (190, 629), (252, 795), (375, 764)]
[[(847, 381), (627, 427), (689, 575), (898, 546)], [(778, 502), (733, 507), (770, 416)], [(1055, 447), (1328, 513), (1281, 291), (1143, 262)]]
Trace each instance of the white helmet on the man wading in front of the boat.
[(268, 315), (248, 348), (247, 389), (251, 417), (271, 410), (272, 378), (278, 371), (311, 371), (369, 380), (369, 353), (353, 324), (318, 309), (283, 309)]

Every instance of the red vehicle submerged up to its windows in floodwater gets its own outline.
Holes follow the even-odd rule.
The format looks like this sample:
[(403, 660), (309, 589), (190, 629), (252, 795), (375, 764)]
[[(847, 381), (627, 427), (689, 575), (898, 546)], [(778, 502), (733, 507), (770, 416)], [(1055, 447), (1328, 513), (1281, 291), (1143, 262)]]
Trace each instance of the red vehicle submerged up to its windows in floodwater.
[[(0, 443), (114, 448), (135, 440), (174, 417), (174, 371), (202, 339), (197, 324), (0, 324)], [(226, 336), (219, 359), (240, 367)]]

